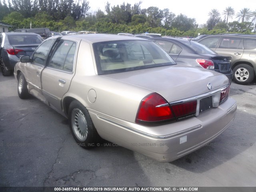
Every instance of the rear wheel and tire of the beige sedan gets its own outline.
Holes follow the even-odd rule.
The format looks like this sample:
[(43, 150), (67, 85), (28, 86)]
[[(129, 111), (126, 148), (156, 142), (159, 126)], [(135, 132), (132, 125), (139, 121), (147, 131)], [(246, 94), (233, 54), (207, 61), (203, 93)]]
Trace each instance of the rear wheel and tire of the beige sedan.
[(88, 110), (78, 101), (71, 102), (68, 108), (68, 120), (74, 139), (83, 148), (96, 146), (99, 135), (94, 127)]

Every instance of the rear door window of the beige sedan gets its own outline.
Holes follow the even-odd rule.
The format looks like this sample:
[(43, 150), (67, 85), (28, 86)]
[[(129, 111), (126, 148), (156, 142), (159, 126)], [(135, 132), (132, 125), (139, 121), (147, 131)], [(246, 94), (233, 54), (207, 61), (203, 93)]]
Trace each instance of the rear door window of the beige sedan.
[(66, 72), (73, 72), (76, 42), (60, 40), (50, 60), (49, 67)]

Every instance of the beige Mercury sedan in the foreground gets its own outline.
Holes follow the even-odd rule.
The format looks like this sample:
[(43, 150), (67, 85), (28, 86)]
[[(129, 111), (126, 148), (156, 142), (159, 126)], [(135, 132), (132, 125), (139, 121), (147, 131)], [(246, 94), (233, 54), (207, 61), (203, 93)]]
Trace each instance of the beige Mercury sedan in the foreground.
[(19, 97), (32, 94), (68, 118), (84, 148), (100, 136), (170, 162), (205, 146), (234, 120), (226, 76), (177, 65), (142, 38), (57, 36), (20, 60)]

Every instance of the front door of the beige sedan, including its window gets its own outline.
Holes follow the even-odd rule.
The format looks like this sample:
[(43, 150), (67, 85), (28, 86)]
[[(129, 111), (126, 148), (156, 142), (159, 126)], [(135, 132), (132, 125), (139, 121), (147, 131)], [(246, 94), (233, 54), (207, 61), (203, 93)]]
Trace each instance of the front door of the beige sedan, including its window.
[(35, 50), (30, 62), (24, 65), (23, 73), (28, 83), (28, 91), (42, 101), (45, 101), (45, 98), (42, 96), (41, 74), (53, 42), (53, 39), (43, 42)]

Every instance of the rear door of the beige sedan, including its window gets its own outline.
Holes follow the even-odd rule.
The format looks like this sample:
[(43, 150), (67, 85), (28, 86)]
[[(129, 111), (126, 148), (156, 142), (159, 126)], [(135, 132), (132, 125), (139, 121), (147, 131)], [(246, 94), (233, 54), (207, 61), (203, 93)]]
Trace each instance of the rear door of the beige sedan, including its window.
[(74, 76), (78, 43), (58, 39), (52, 56), (42, 72), (42, 92), (50, 106), (62, 113), (61, 100)]

